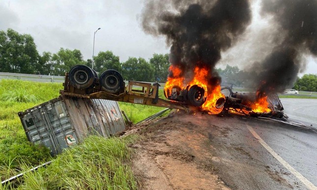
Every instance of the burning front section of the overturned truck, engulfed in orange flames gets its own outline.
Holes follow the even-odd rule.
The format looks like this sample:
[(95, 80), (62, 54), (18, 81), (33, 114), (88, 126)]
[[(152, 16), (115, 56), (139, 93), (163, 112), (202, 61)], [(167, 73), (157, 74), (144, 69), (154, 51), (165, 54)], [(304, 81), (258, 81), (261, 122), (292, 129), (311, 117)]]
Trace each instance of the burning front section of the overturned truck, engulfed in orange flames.
[[(277, 94), (265, 95), (260, 94), (259, 91), (233, 93), (233, 85), (221, 87), (220, 84), (213, 86), (208, 91), (206, 81), (208, 71), (205, 68), (196, 67), (194, 78), (186, 85), (183, 84), (185, 78), (180, 76), (180, 69), (172, 65), (170, 72), (173, 77), (168, 77), (164, 95), (171, 101), (185, 102), (200, 107), (201, 111), (206, 111), (208, 114), (233, 113), (287, 119)], [(229, 91), (229, 96), (225, 96), (221, 92), (226, 89)]]

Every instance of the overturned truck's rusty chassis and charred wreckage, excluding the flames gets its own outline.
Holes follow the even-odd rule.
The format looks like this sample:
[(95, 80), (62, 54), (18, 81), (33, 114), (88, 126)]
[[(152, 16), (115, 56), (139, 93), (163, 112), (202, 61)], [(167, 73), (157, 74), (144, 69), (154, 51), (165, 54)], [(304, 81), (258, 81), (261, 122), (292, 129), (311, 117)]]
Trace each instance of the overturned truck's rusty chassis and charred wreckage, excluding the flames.
[[(61, 95), (91, 98), (91, 99), (109, 99), (128, 103), (137, 103), (150, 106), (166, 107), (170, 109), (180, 109), (186, 112), (198, 111), (205, 102), (203, 88), (198, 85), (187, 86), (184, 89), (173, 87), (171, 92), (165, 92), (168, 100), (159, 97), (158, 83), (145, 83), (137, 81), (125, 82), (118, 71), (104, 71), (98, 78), (96, 71), (84, 65), (74, 66), (65, 74), (64, 90)], [(237, 113), (246, 116), (287, 119), (284, 114), (283, 105), (279, 97), (269, 95), (267, 101), (271, 112), (256, 113), (252, 111), (251, 105), (254, 102), (252, 97), (255, 93), (237, 93), (232, 91), (231, 86), (224, 86), (221, 90), (229, 90), (229, 96), (219, 98), (216, 102), (216, 108), (223, 108), (222, 113)]]

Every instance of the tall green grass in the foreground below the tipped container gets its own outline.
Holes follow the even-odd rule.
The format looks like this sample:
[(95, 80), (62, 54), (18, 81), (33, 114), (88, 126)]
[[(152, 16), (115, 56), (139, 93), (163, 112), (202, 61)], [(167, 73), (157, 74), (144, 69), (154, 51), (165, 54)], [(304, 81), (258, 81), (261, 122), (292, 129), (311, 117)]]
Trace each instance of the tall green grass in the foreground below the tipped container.
[[(137, 189), (136, 179), (129, 166), (131, 150), (128, 144), (138, 139), (105, 139), (90, 136), (80, 145), (66, 149), (46, 168), (27, 172), (19, 189), (27, 190), (115, 190)], [(24, 165), (24, 170), (29, 169)], [(11, 189), (8, 184), (3, 189)]]

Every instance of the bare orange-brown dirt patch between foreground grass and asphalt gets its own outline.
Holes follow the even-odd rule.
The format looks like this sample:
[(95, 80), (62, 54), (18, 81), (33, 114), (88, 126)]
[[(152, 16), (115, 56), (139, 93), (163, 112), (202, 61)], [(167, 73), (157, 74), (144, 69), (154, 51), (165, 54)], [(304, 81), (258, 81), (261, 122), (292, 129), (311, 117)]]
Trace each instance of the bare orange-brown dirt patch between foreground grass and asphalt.
[(132, 169), (140, 189), (229, 189), (214, 173), (215, 158), (206, 151), (212, 149), (206, 142), (208, 134), (196, 132), (199, 126), (191, 121), (177, 121), (178, 116), (170, 116), (133, 129), (144, 137), (132, 145), (136, 151)]

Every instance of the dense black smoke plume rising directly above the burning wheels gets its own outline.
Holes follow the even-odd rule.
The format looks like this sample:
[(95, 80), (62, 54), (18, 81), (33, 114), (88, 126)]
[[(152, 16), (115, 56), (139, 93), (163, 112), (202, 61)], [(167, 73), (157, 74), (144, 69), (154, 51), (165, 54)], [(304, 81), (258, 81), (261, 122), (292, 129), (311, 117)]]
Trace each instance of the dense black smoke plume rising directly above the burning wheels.
[(191, 80), (195, 66), (206, 67), (213, 84), (220, 83), (214, 67), (221, 51), (234, 44), (250, 21), (248, 0), (149, 0), (142, 14), (145, 32), (166, 37), (170, 62), (181, 68), (182, 76)]

